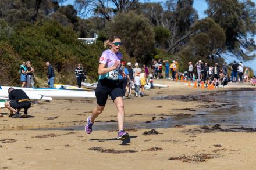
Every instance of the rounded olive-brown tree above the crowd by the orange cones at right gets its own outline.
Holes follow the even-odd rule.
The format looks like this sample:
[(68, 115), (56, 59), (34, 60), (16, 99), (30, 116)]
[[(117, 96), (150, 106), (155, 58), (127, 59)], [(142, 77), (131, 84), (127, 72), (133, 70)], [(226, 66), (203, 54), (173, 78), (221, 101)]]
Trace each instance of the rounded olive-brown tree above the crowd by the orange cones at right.
[(211, 64), (221, 58), (225, 52), (225, 31), (211, 18), (198, 20), (193, 26), (194, 32), (189, 42), (180, 52), (183, 62), (208, 61)]

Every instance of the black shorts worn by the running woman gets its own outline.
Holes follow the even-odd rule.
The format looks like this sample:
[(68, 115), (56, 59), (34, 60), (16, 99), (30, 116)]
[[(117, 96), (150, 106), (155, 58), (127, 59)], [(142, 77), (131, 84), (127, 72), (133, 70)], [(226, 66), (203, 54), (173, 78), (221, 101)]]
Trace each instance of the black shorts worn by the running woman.
[(97, 88), (95, 89), (97, 104), (105, 106), (108, 95), (114, 101), (116, 97), (122, 97), (122, 90), (117, 80), (101, 79), (98, 81)]

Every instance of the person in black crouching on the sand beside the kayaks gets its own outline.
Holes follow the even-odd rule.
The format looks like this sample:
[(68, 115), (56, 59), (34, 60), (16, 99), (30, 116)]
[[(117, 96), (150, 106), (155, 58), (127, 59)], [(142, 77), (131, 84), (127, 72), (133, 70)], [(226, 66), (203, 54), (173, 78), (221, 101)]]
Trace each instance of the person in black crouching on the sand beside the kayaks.
[[(27, 117), (27, 110), (30, 108), (31, 103), (27, 94), (20, 89), (9, 88), (9, 101), (5, 102), (5, 107), (10, 110), (9, 117), (21, 118), (20, 110), (24, 108), (23, 117)], [(15, 114), (13, 115), (13, 112)]]

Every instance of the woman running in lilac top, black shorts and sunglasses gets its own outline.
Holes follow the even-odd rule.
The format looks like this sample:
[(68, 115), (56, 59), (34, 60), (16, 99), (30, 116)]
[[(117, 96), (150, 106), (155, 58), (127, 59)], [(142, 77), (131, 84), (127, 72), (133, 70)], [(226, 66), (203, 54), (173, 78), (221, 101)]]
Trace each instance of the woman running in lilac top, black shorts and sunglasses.
[(118, 110), (118, 139), (124, 140), (129, 138), (129, 135), (123, 131), (125, 111), (123, 108), (122, 91), (118, 82), (118, 72), (122, 58), (122, 53), (119, 52), (120, 45), (122, 45), (122, 41), (118, 36), (113, 36), (104, 43), (104, 46), (107, 46), (109, 49), (105, 50), (99, 59), (99, 81), (95, 89), (97, 107), (93, 110), (91, 116), (87, 118), (85, 130), (87, 134), (93, 131), (94, 120), (104, 110), (109, 95)]

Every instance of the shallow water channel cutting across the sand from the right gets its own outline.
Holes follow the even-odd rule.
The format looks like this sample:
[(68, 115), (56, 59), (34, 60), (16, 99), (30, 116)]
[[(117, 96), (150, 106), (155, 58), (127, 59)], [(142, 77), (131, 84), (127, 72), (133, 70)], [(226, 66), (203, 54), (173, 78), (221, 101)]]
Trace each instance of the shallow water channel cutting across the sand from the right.
[[(216, 103), (222, 103), (221, 108), (214, 111), (197, 111), (197, 115), (164, 116), (166, 120), (145, 122), (125, 122), (125, 128), (170, 128), (175, 125), (230, 125), (256, 128), (256, 91), (222, 91), (212, 93), (201, 93), (189, 96), (157, 96), (153, 100), (196, 100), (211, 102), (211, 106), (216, 107)], [(170, 101), (171, 102), (171, 101)], [(182, 110), (181, 110), (182, 111)], [(84, 126), (72, 126), (66, 128), (52, 128), (55, 130), (84, 130)], [(116, 122), (96, 122), (94, 130), (117, 129)], [(40, 129), (42, 130), (42, 129)], [(49, 129), (45, 129), (49, 130)]]

